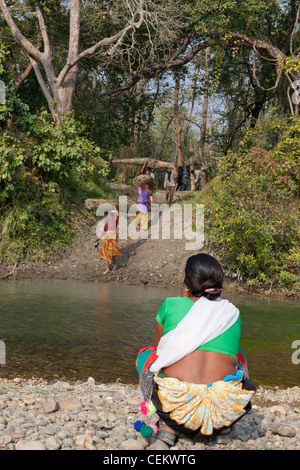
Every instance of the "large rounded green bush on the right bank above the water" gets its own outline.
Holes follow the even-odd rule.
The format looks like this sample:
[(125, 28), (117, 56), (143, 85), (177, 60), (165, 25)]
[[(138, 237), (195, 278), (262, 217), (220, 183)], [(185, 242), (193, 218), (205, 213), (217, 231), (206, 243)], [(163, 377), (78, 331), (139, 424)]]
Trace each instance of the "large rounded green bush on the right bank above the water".
[(263, 125), (249, 131), (206, 189), (209, 242), (228, 269), (251, 285), (300, 286), (300, 123), (288, 124), (279, 129), (274, 119), (270, 132), (280, 130), (282, 140), (273, 150), (252, 145), (266, 131)]

